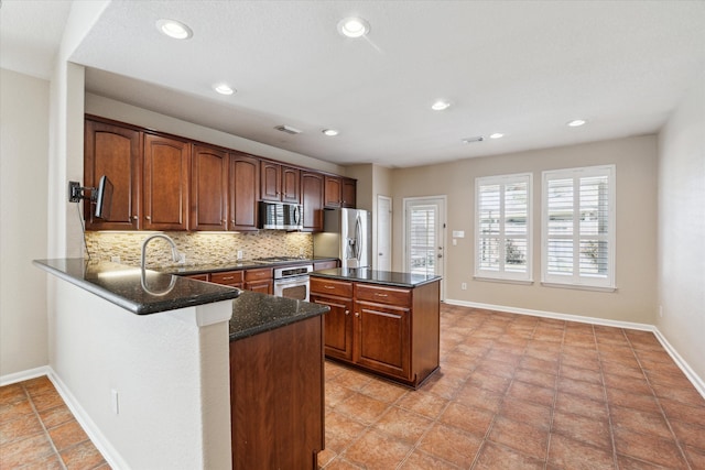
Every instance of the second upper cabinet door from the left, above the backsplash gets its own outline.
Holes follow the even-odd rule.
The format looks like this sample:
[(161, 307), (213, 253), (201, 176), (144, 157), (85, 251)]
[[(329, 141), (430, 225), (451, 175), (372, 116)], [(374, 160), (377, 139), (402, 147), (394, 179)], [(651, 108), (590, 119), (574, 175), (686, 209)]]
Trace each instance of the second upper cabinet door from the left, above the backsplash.
[(160, 135), (144, 136), (144, 220), (147, 230), (188, 230), (191, 145)]

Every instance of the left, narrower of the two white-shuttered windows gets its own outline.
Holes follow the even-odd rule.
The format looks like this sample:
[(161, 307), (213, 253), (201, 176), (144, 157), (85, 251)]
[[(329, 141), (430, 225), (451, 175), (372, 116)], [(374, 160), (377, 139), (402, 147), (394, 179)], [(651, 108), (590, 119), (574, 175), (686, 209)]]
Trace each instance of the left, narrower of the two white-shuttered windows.
[(531, 281), (531, 174), (475, 181), (477, 277)]

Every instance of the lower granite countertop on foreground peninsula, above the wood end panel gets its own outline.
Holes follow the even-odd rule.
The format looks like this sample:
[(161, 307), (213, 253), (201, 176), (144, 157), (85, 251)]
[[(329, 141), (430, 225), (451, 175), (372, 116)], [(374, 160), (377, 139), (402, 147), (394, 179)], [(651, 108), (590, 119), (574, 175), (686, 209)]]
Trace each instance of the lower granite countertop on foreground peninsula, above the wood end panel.
[(327, 313), (321, 304), (242, 291), (232, 302), (230, 341), (237, 341)]

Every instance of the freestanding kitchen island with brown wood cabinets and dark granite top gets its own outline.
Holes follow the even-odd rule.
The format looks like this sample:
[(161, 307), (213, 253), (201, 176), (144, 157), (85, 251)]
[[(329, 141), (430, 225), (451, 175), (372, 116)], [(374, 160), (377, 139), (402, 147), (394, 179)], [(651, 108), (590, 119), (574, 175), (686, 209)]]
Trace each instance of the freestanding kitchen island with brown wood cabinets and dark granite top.
[(440, 361), (436, 275), (333, 269), (311, 273), (311, 302), (330, 307), (327, 358), (417, 389)]

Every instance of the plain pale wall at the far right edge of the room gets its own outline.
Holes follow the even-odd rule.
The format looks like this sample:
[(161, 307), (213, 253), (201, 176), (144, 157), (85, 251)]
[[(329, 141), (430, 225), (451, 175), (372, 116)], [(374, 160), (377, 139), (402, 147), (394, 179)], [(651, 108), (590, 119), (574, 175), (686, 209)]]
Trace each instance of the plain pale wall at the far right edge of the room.
[(705, 381), (705, 76), (659, 135), (659, 330)]

